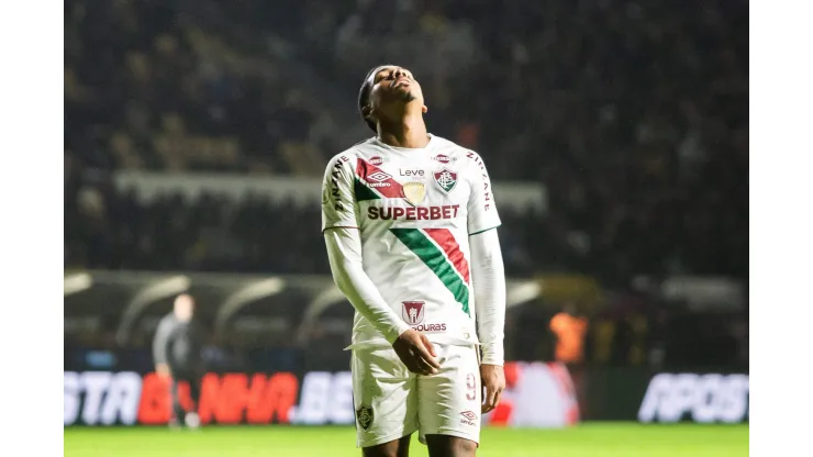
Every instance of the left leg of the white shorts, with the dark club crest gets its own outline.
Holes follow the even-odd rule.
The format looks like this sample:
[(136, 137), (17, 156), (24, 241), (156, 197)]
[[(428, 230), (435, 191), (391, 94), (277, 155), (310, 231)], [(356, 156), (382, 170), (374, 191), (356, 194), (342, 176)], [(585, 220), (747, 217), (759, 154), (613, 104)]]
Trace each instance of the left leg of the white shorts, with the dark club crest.
[(417, 430), (415, 377), (393, 349), (355, 349), (350, 371), (358, 447), (397, 442)]

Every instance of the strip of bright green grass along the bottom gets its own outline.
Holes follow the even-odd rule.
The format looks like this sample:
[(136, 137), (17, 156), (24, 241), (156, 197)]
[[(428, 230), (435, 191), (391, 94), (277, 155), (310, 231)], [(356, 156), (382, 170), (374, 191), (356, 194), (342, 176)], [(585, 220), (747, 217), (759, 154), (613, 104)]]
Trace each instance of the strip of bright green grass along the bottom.
[[(487, 428), (478, 457), (748, 455), (748, 425), (589, 423), (567, 430)], [(413, 435), (413, 457), (427, 456)], [(66, 428), (66, 457), (358, 457), (353, 427)]]

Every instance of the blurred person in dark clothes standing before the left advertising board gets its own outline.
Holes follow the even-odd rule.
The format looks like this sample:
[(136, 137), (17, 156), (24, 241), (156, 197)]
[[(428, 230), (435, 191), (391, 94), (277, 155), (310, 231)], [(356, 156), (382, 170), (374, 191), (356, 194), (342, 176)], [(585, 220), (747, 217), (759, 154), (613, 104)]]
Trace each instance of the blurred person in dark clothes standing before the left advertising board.
[[(175, 299), (172, 312), (158, 324), (153, 341), (155, 371), (170, 380), (174, 413), (170, 426), (178, 426), (181, 420), (190, 428), (200, 426), (197, 410), (204, 372), (202, 349), (203, 333), (194, 321), (194, 299), (186, 293), (180, 294)], [(181, 382), (189, 384), (192, 399), (189, 411), (183, 408), (178, 394)]]

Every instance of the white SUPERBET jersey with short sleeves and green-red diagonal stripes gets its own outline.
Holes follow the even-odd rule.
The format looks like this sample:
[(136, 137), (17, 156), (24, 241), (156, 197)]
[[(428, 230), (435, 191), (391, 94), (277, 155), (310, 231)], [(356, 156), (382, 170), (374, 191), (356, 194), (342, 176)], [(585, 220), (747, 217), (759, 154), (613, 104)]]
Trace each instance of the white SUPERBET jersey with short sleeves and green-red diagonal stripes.
[[(433, 135), (420, 149), (370, 138), (331, 160), (322, 193), (322, 230), (360, 231), (364, 270), (406, 324), (477, 343), (468, 237), (500, 225), (477, 153)], [(356, 312), (354, 345), (382, 339)]]

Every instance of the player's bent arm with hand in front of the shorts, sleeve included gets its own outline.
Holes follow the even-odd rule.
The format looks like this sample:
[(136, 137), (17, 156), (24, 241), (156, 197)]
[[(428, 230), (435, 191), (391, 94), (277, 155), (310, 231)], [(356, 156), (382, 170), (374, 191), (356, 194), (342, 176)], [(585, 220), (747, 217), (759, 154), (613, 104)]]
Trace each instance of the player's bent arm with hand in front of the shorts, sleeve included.
[(333, 280), (411, 371), (435, 372), (439, 366), (426, 336), (399, 319), (364, 270), (352, 161), (346, 155), (337, 156), (327, 166), (322, 185), (322, 232)]

